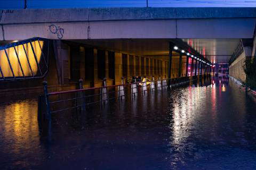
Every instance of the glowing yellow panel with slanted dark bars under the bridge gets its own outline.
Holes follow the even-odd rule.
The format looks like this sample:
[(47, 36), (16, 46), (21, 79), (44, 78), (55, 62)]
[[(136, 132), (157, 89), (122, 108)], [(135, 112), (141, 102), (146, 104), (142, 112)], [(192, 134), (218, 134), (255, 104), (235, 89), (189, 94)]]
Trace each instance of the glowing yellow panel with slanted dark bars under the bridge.
[[(45, 41), (48, 43), (45, 44)], [(0, 79), (43, 77), (48, 67), (48, 46), (49, 40), (33, 38), (0, 47), (0, 67), (3, 73), (0, 72)], [(46, 55), (42, 50), (45, 50)]]

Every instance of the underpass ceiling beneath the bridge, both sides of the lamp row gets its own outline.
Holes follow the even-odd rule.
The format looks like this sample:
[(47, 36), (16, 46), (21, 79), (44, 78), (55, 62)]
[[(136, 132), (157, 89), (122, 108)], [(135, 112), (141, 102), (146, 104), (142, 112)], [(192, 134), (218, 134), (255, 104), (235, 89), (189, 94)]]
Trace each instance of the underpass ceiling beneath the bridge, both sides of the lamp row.
[[(169, 54), (169, 41), (175, 39), (111, 39), (73, 40), (89, 46), (134, 55), (163, 56)], [(204, 55), (212, 63), (228, 63), (239, 39), (182, 39), (184, 43)]]

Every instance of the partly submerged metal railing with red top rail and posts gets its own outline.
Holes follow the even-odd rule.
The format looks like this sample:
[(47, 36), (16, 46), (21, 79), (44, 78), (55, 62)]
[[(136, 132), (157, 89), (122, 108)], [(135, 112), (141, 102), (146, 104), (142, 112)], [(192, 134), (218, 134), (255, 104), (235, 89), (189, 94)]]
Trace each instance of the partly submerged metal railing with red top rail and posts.
[[(47, 82), (43, 82), (44, 95), (39, 96), (38, 113), (44, 118), (50, 119), (51, 114), (79, 109), (85, 111), (86, 107), (93, 104), (106, 105), (110, 101), (123, 100), (125, 97), (134, 98), (137, 94), (146, 94), (154, 90), (167, 87), (174, 88), (191, 81), (188, 77), (179, 79), (161, 79), (145, 82), (134, 82), (107, 86), (106, 79), (102, 81), (102, 87), (83, 89), (83, 81), (79, 80), (79, 89), (60, 92), (48, 92)], [(148, 84), (147, 84), (148, 83)], [(64, 106), (64, 107), (63, 107)]]

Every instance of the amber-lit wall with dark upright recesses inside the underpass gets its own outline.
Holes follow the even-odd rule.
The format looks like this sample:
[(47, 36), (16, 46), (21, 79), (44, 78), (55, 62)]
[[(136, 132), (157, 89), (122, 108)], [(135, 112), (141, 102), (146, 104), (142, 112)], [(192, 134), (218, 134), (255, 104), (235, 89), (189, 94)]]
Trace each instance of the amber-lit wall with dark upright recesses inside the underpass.
[[(71, 59), (72, 59), (72, 54), (70, 52), (70, 48), (71, 46), (69, 46), (66, 43), (63, 43), (61, 40), (56, 40), (54, 42), (55, 46), (55, 50), (54, 50), (54, 54), (55, 57), (58, 58), (57, 60), (57, 73), (58, 73), (58, 82), (59, 84), (70, 84), (70, 83), (76, 83), (78, 80), (73, 80), (70, 79), (70, 63), (71, 63)], [(73, 45), (74, 46), (74, 45)], [(76, 45), (77, 47), (80, 46), (80, 48), (84, 47), (82, 44), (81, 45)], [(86, 48), (86, 47), (85, 47)], [(85, 53), (81, 53), (79, 54), (79, 62), (80, 65), (76, 68), (79, 69), (80, 72), (80, 78), (84, 80), (83, 84), (84, 84), (84, 88), (89, 88), (89, 87), (101, 87), (102, 86), (102, 79), (98, 78), (98, 72), (99, 72), (99, 68), (98, 68), (98, 57), (97, 57), (97, 53), (98, 50), (104, 50), (105, 52), (105, 77), (107, 79), (107, 85), (112, 85), (112, 84), (120, 84), (121, 83), (121, 78), (123, 77), (123, 73), (126, 72), (126, 80), (130, 80), (131, 77), (133, 76), (146, 76), (147, 78), (152, 78), (153, 76), (155, 78), (167, 78), (167, 63), (168, 63), (168, 56), (135, 56), (135, 55), (131, 55), (131, 54), (127, 54), (127, 53), (122, 53), (122, 52), (114, 52), (115, 53), (115, 78), (114, 79), (110, 79), (109, 78), (109, 60), (108, 60), (108, 50), (106, 49), (102, 49), (102, 48), (97, 48), (97, 47), (90, 47), (93, 48), (93, 56), (86, 56)], [(127, 63), (124, 65), (122, 62), (122, 54), (126, 54), (127, 55)], [(86, 67), (86, 63), (83, 61), (85, 57), (93, 57), (93, 80), (89, 80), (85, 78), (85, 67)], [(130, 62), (130, 57), (133, 57), (133, 61)], [(138, 58), (139, 63), (135, 62), (135, 57)], [(148, 58), (148, 64), (146, 64), (146, 58)], [(178, 58), (178, 56), (174, 56), (174, 58)], [(142, 60), (144, 59), (144, 60)], [(153, 59), (155, 60), (155, 62), (150, 63), (150, 60)], [(143, 62), (143, 64), (142, 64)], [(68, 68), (65, 69), (65, 63), (67, 63), (66, 65), (68, 65)], [(157, 63), (159, 63), (157, 65)], [(162, 63), (162, 64), (161, 64)], [(142, 65), (144, 65), (142, 67)], [(173, 60), (172, 63), (172, 78), (177, 78), (177, 74), (178, 74), (178, 59), (177, 60)], [(127, 67), (127, 70), (124, 70), (123, 68)], [(133, 71), (131, 71), (130, 69), (133, 69)], [(143, 69), (143, 70), (142, 70)], [(184, 70), (184, 69), (183, 69)], [(183, 76), (183, 75), (182, 75)]]

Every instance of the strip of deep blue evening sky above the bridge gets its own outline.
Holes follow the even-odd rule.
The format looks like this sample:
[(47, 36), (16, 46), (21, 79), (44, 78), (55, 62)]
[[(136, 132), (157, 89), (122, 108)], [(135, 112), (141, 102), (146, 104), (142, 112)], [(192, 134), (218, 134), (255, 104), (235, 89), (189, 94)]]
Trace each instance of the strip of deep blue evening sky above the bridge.
[[(0, 0), (0, 8), (23, 8), (25, 0)], [(27, 0), (28, 8), (146, 7), (147, 0)], [(256, 7), (256, 0), (148, 0), (149, 7)]]

